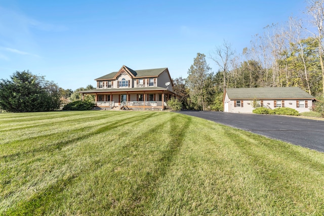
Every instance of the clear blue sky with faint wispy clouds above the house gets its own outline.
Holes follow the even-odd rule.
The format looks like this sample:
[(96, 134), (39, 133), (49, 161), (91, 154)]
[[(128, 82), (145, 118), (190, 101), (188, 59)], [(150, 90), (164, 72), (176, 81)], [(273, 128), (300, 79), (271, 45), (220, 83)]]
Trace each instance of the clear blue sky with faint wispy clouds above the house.
[(298, 0), (0, 0), (0, 78), (28, 69), (75, 90), (123, 65), (187, 77), (197, 53), (209, 57), (225, 39), (239, 55), (266, 25), (301, 17), (305, 7)]

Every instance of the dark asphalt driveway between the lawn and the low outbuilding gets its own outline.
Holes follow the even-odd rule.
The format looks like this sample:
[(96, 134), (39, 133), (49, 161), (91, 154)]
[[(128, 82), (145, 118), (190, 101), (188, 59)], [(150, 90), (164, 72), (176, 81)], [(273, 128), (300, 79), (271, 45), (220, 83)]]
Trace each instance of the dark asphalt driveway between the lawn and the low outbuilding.
[(324, 152), (324, 121), (279, 115), (180, 111), (228, 126)]

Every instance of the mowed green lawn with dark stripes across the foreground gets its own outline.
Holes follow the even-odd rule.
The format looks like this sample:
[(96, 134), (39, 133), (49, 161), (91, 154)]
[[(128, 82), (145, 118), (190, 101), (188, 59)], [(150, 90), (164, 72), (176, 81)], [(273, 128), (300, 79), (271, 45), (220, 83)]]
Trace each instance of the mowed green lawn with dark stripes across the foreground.
[(0, 114), (1, 215), (323, 215), (324, 154), (172, 112)]

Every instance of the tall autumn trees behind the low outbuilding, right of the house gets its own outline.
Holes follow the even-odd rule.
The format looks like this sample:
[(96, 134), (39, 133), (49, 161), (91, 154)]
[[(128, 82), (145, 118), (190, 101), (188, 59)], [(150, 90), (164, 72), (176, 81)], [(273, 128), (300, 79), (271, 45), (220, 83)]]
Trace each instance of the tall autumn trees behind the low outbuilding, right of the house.
[[(183, 108), (222, 110), (225, 88), (300, 87), (322, 101), (324, 0), (310, 0), (304, 14), (266, 26), (238, 55), (225, 40), (208, 57), (197, 53), (188, 77), (173, 80)], [(206, 58), (218, 71), (212, 71)]]

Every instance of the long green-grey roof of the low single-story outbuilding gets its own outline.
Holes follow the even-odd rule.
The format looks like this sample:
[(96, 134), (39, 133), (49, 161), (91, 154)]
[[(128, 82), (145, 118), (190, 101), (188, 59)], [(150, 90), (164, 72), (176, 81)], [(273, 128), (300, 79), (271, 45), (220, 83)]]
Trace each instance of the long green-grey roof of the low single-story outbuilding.
[(225, 89), (231, 100), (235, 99), (315, 99), (298, 87), (266, 87)]

